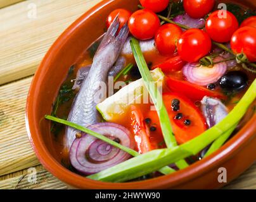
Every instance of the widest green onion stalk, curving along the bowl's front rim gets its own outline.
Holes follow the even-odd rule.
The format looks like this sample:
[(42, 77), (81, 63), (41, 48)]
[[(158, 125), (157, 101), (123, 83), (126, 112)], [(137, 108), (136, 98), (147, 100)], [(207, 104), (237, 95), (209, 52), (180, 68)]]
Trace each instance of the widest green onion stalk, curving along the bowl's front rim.
[(153, 150), (138, 157), (131, 158), (110, 169), (103, 170), (94, 175), (89, 175), (89, 179), (107, 182), (124, 182), (135, 179), (142, 175), (150, 174), (155, 170), (177, 162), (191, 155), (196, 155), (207, 145), (219, 138), (229, 129), (236, 126), (245, 115), (246, 110), (256, 98), (256, 80), (253, 81), (250, 88), (241, 98), (234, 109), (218, 124), (200, 134), (193, 140), (180, 146), (162, 150)]

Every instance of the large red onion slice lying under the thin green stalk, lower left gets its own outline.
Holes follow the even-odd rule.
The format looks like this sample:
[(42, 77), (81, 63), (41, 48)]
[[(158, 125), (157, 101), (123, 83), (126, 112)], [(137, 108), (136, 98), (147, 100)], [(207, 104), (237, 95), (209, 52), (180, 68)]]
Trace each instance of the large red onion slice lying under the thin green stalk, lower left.
[[(129, 130), (118, 124), (105, 122), (88, 127), (96, 133), (103, 134), (111, 140), (116, 138), (120, 144), (134, 148), (134, 139)], [(115, 146), (98, 140), (89, 134), (82, 134), (70, 148), (70, 162), (77, 171), (82, 174), (95, 174), (101, 170), (124, 162), (131, 155)]]

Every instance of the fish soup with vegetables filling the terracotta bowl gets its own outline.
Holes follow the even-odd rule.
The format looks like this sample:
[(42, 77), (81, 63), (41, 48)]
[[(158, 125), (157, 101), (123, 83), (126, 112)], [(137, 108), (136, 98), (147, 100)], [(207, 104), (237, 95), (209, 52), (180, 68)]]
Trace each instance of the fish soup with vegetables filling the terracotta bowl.
[[(226, 1), (227, 11), (220, 11), (222, 1), (209, 0), (198, 3), (207, 13), (198, 13), (189, 0), (164, 2), (153, 7), (158, 16), (146, 0), (146, 9), (135, 13), (110, 13), (107, 32), (70, 67), (51, 116), (87, 132), (51, 119), (53, 146), (67, 169), (111, 182), (171, 174), (220, 148), (255, 112), (256, 44), (245, 42), (256, 41), (255, 11)], [(151, 21), (138, 27), (143, 19)], [(249, 48), (241, 50), (243, 45)], [(246, 92), (252, 92), (249, 98)], [(198, 138), (229, 122), (238, 108), (247, 111), (243, 119), (234, 116), (212, 141)], [(192, 140), (198, 148), (190, 155), (169, 163), (156, 158)], [(136, 165), (154, 166), (136, 173)]]

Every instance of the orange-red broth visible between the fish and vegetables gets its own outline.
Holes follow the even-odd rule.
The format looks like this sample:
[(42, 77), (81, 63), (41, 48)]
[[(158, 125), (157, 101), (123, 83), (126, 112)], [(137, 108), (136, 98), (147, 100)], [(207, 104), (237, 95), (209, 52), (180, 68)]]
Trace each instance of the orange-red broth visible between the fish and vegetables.
[[(63, 88), (63, 86), (65, 88), (64, 88), (64, 91), (62, 89), (62, 92), (61, 92), (62, 94), (61, 95), (59, 94), (59, 96), (60, 96), (59, 101), (60, 101), (60, 99), (61, 99), (61, 101), (58, 104), (58, 108), (56, 108), (56, 113), (54, 112), (54, 114), (53, 114), (54, 116), (57, 116), (57, 117), (60, 117), (63, 119), (67, 119), (68, 114), (70, 112), (70, 108), (72, 106), (72, 102), (74, 101), (75, 94), (77, 93), (76, 91), (71, 90), (72, 86), (74, 85), (74, 80), (75, 80), (77, 71), (82, 67), (92, 64), (93, 54), (96, 50), (97, 45), (98, 45), (98, 41), (94, 42), (94, 44), (91, 46), (91, 48), (86, 50), (86, 52), (83, 54), (83, 56), (79, 57), (79, 59), (77, 60), (75, 65), (72, 66), (72, 68), (70, 69), (70, 73), (68, 74), (67, 79), (63, 82), (63, 85), (61, 87), (61, 89)], [(134, 57), (132, 55), (125, 55), (124, 57), (126, 60), (124, 66), (126, 66), (129, 63), (132, 63), (134, 67), (132, 68), (132, 71), (131, 71), (132, 73), (129, 73), (128, 75), (125, 75), (125, 76), (120, 76), (118, 81), (127, 81), (128, 82), (128, 81), (138, 80), (140, 75), (139, 75), (138, 68), (136, 66)], [(150, 64), (150, 66), (155, 66), (157, 64), (160, 64), (160, 63), (166, 61), (169, 56), (168, 57), (162, 56), (158, 53), (157, 50), (154, 50), (154, 51), (145, 52), (144, 57), (146, 59), (146, 62), (148, 64)], [(244, 73), (246, 73), (246, 75), (249, 78), (248, 86), (250, 86), (252, 81), (255, 79), (255, 74), (249, 73), (248, 71), (243, 69), (240, 64), (238, 64), (234, 68), (228, 69), (228, 71), (233, 71), (233, 70), (236, 70), (236, 71), (239, 70), (239, 71), (243, 71)], [(172, 78), (178, 78), (179, 80), (184, 80), (184, 76), (182, 75), (181, 71), (176, 71), (176, 72), (165, 74), (165, 75), (171, 76)], [(230, 95), (227, 95), (227, 99), (223, 100), (224, 104), (226, 105), (226, 107), (229, 111), (232, 110), (234, 108), (234, 106), (237, 104), (237, 102), (241, 99), (241, 97), (244, 95), (244, 93), (248, 89), (248, 86), (238, 93), (231, 93)], [(223, 93), (220, 86), (217, 86), (214, 91)], [(163, 93), (165, 93), (165, 92), (170, 92), (169, 88), (166, 85), (163, 86)], [(55, 106), (56, 106), (57, 102), (58, 102), (58, 98), (55, 102)], [(198, 102), (200, 102), (200, 100), (197, 100), (197, 103)], [(139, 109), (141, 109), (143, 116), (146, 117), (146, 114), (150, 110), (150, 107), (152, 104), (137, 104), (137, 105), (138, 105)], [(199, 106), (198, 106), (198, 109), (199, 109)], [(249, 120), (250, 117), (252, 117), (252, 114), (254, 113), (254, 109), (255, 109), (255, 103), (253, 104), (253, 107), (251, 108), (251, 110), (248, 110), (247, 116), (245, 116), (242, 125), (245, 124), (246, 120)], [(130, 120), (129, 113), (130, 112), (127, 111), (124, 114), (121, 114), (120, 116), (116, 117), (116, 119), (113, 119), (113, 122), (124, 126), (125, 128), (129, 129), (131, 131), (131, 133), (133, 134), (134, 132), (131, 127), (131, 120)], [(102, 121), (104, 121), (104, 120), (102, 119)], [(241, 128), (241, 125), (240, 125), (240, 128)], [(52, 131), (53, 132), (53, 147), (56, 149), (56, 152), (60, 156), (60, 162), (62, 163), (63, 166), (65, 166), (68, 169), (75, 172), (75, 169), (72, 167), (72, 165), (70, 165), (68, 150), (64, 146), (65, 127), (58, 125), (58, 124), (52, 124), (52, 129), (53, 129), (53, 131)], [(163, 143), (162, 132), (159, 131), (158, 128), (156, 131), (151, 131), (150, 138), (152, 141), (157, 141), (158, 148), (165, 148), (165, 144)], [(194, 157), (193, 159), (198, 160), (198, 157)], [(152, 175), (150, 175), (150, 177), (152, 177)]]

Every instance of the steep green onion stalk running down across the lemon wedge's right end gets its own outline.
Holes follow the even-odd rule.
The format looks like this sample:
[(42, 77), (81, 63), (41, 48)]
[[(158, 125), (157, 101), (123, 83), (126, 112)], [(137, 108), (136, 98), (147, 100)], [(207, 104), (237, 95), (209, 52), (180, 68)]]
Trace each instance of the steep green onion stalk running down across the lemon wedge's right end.
[[(155, 88), (155, 82), (151, 76), (150, 70), (148, 69), (148, 65), (146, 64), (138, 40), (134, 38), (131, 39), (131, 48), (137, 66), (139, 68), (139, 72), (141, 73), (141, 76), (143, 78), (144, 85), (150, 93), (151, 100), (153, 101), (153, 104), (157, 109), (157, 114), (159, 117), (165, 144), (167, 145), (167, 148), (173, 148), (174, 146), (177, 146), (177, 141), (172, 133), (172, 126), (170, 124), (169, 115), (165, 108), (165, 105), (163, 104), (162, 95), (160, 94), (159, 90)], [(186, 163), (185, 160), (181, 160), (176, 164), (179, 169), (184, 169), (185, 167), (188, 167), (188, 163)]]

